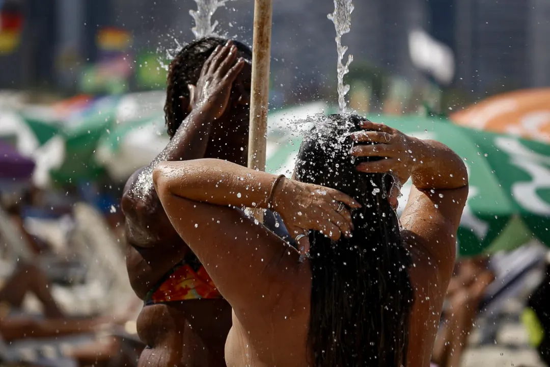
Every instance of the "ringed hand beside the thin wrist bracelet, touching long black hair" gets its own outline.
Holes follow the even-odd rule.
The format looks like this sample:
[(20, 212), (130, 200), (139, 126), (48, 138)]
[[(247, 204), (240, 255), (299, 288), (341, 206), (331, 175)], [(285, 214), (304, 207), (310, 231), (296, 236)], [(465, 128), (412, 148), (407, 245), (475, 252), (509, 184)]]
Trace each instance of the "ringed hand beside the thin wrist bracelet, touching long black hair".
[(273, 207), (282, 217), (301, 254), (309, 251), (309, 230), (337, 241), (353, 230), (350, 209), (361, 205), (338, 190), (284, 179), (274, 191)]

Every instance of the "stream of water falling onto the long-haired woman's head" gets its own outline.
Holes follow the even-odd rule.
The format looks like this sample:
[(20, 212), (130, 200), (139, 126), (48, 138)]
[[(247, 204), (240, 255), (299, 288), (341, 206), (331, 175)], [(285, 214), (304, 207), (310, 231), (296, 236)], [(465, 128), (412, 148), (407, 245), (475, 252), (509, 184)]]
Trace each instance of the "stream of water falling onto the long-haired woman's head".
[(334, 23), (336, 30), (336, 47), (338, 51), (338, 106), (340, 113), (346, 112), (345, 95), (349, 92), (349, 85), (344, 84), (344, 75), (349, 73), (349, 64), (353, 61), (353, 55), (348, 55), (348, 62), (342, 63), (348, 46), (342, 46), (342, 36), (351, 30), (351, 13), (354, 6), (351, 0), (334, 0), (334, 13), (327, 18)]

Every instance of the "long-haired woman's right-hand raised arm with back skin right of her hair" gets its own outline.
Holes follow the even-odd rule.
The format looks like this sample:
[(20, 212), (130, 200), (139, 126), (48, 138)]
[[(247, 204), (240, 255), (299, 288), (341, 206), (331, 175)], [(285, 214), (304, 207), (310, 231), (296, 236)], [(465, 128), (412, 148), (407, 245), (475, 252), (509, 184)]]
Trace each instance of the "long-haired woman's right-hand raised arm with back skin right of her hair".
[[(439, 325), (445, 291), (453, 273), (456, 231), (468, 195), (464, 162), (449, 147), (419, 140), (386, 125), (365, 122), (366, 130), (354, 134), (356, 156), (386, 157), (360, 163), (362, 172), (390, 172), (401, 183), (412, 177), (413, 187), (400, 221), (401, 237), (414, 262), (409, 270), (415, 289), (411, 315), (409, 364), (429, 364), (422, 343), (431, 344)], [(428, 320), (428, 321), (426, 321)]]

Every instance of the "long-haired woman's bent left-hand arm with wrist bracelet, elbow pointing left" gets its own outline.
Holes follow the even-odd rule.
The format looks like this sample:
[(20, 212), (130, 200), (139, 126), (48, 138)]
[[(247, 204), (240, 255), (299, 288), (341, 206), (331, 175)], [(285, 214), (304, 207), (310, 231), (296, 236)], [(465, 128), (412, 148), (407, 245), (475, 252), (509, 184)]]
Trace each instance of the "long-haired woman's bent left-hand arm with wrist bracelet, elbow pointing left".
[[(234, 309), (272, 307), (292, 278), (287, 276), (298, 269), (296, 251), (234, 207), (272, 204), (287, 227), (338, 238), (351, 226), (351, 218), (338, 212), (339, 203), (358, 205), (337, 190), (213, 159), (161, 163), (153, 182), (172, 225)], [(296, 214), (300, 211), (304, 215)]]

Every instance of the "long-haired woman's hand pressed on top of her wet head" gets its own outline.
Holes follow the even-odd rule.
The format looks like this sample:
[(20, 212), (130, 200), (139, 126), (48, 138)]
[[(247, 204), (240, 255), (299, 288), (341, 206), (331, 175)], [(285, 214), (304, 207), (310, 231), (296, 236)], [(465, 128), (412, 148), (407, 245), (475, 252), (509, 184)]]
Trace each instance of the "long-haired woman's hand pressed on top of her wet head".
[(356, 145), (351, 155), (356, 157), (381, 157), (381, 160), (361, 162), (356, 169), (360, 172), (391, 172), (403, 185), (421, 163), (415, 156), (417, 139), (401, 133), (388, 125), (364, 121), (364, 131), (351, 134)]

